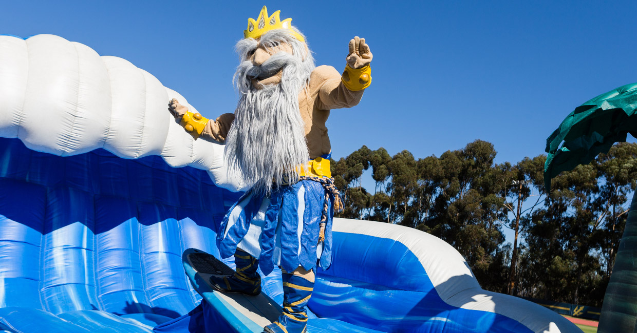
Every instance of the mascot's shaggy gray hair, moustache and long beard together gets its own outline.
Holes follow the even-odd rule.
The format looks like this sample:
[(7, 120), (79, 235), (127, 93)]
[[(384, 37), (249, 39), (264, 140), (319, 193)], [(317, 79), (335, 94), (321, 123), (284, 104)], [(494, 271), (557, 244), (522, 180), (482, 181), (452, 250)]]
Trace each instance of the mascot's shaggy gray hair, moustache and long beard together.
[[(246, 60), (259, 44), (275, 47), (282, 42), (292, 47), (291, 55), (278, 51), (259, 66)], [(278, 187), (296, 180), (297, 165), (309, 160), (298, 95), (310, 80), (314, 59), (306, 44), (286, 29), (266, 32), (258, 42), (242, 39), (236, 44), (236, 51), (241, 64), (233, 83), (241, 97), (225, 140), (225, 158), (231, 168), (240, 168), (247, 184), (254, 184), (252, 191), (267, 194), (273, 183)], [(271, 76), (282, 67), (278, 85), (261, 89), (252, 85), (252, 78)]]

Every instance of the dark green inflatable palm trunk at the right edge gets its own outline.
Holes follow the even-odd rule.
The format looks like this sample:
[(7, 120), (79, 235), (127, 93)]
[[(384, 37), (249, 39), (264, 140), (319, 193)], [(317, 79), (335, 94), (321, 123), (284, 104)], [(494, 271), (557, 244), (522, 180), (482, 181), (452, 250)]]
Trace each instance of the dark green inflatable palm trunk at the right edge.
[(624, 234), (599, 318), (599, 333), (634, 332), (637, 320), (637, 196), (633, 194)]

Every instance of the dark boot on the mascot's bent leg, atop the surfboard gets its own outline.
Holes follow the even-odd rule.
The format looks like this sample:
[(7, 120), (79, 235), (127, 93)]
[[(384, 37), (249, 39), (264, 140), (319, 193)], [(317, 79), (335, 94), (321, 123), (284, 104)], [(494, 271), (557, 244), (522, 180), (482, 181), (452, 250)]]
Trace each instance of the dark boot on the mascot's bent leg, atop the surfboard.
[(236, 273), (229, 276), (210, 276), (210, 282), (220, 292), (240, 292), (248, 296), (261, 294), (261, 275), (257, 273), (259, 261), (252, 255), (237, 248), (234, 252)]

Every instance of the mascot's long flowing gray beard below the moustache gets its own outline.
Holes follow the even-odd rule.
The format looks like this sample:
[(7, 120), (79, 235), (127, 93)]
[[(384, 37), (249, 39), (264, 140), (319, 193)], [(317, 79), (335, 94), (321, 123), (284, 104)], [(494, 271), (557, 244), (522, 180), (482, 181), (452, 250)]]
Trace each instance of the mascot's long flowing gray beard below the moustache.
[[(238, 73), (242, 66), (250, 70), (250, 65), (244, 63)], [(297, 180), (297, 166), (309, 160), (298, 94), (308, 82), (311, 70), (301, 67), (306, 66), (287, 64), (278, 85), (264, 86), (261, 90), (249, 85), (249, 89), (241, 92), (225, 140), (225, 158), (231, 168), (240, 168), (243, 180), (254, 184), (252, 191), (256, 193), (268, 194), (273, 183), (278, 187)]]

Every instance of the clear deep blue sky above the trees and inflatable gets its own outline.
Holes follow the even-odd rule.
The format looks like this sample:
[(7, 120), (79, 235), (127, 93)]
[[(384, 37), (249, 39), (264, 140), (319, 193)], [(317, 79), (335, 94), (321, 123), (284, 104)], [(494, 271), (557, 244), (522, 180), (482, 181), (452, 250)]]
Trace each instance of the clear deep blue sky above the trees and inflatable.
[(341, 71), (354, 36), (371, 46), (371, 87), (327, 123), (336, 158), (362, 145), (440, 156), (482, 139), (515, 163), (542, 154), (577, 105), (637, 81), (637, 1), (22, 0), (2, 2), (0, 34), (125, 58), (215, 118), (234, 110), (234, 43), (264, 4), (292, 17), (317, 65)]

